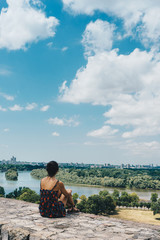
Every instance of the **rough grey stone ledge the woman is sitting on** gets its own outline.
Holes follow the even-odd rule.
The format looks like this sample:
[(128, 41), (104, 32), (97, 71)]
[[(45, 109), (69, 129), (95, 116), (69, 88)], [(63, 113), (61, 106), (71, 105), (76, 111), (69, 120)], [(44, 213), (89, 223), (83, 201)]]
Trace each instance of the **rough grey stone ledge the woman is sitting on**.
[(42, 218), (38, 205), (0, 198), (0, 240), (160, 240), (160, 227), (76, 213)]

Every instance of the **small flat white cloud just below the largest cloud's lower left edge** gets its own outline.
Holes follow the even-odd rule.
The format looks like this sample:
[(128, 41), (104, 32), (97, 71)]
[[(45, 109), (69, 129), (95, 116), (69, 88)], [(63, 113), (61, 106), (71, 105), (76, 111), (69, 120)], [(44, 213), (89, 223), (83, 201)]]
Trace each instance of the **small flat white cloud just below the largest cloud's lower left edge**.
[(103, 126), (100, 129), (87, 133), (87, 136), (98, 137), (98, 138), (108, 138), (113, 136), (117, 132), (118, 132), (118, 129), (112, 129), (110, 126)]

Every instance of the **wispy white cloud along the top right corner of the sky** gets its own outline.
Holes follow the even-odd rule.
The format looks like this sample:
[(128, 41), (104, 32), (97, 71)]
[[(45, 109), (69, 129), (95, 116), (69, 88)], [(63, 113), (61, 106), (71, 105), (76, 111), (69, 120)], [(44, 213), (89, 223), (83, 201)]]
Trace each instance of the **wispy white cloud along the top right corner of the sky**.
[(63, 0), (73, 14), (93, 15), (96, 10), (123, 20), (127, 35), (137, 35), (147, 45), (160, 41), (160, 1)]

